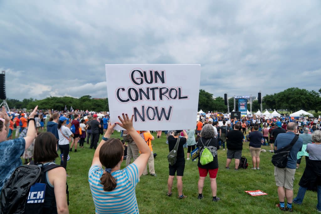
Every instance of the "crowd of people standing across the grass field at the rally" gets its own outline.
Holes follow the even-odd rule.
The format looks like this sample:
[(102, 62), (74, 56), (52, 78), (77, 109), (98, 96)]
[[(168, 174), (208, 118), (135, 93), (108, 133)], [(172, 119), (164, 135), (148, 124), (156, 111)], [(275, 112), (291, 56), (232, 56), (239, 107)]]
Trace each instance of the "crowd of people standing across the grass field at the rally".
[[(133, 117), (123, 114), (118, 116), (118, 119), (118, 122), (111, 124), (108, 114), (88, 111), (41, 111), (37, 107), (31, 113), (16, 111), (8, 114), (3, 107), (0, 112), (0, 191), (14, 169), (22, 165), (21, 156), (25, 164), (33, 159), (34, 164), (47, 166), (55, 164), (55, 159), (59, 157), (57, 150), (60, 150), (62, 167), (54, 168), (46, 174), (44, 207), (47, 210), (54, 207), (55, 213), (69, 213), (65, 194), (68, 154), (73, 149), (77, 152), (78, 143), (80, 148), (83, 148), (84, 142), (89, 144), (90, 139), (90, 149), (94, 149), (95, 153), (88, 181), (96, 213), (138, 213), (135, 187), (139, 177), (148, 175), (148, 172), (156, 176), (156, 154), (152, 148), (154, 137), (150, 131), (134, 130)], [(125, 129), (122, 132), (123, 141), (110, 138), (116, 124)], [(274, 167), (279, 196), (277, 207), (283, 211), (293, 211), (292, 202), (301, 204), (306, 190), (314, 189), (317, 192), (317, 211), (321, 212), (320, 129), (320, 119), (316, 122), (314, 119), (309, 121), (305, 118), (243, 116), (237, 119), (211, 115), (201, 117), (195, 130), (166, 131), (169, 152), (177, 150), (175, 163), (169, 164), (167, 196), (171, 197), (173, 194), (176, 175), (178, 199), (187, 197), (183, 193), (185, 162), (191, 160), (191, 152), (195, 148), (199, 151), (197, 198), (204, 198), (204, 180), (209, 174), (212, 201), (217, 202), (220, 201), (216, 185), (218, 150), (227, 150), (225, 169), (230, 169), (234, 159), (234, 170), (238, 171), (243, 144), (248, 141), (253, 164), (251, 169), (260, 170), (260, 153), (264, 151), (262, 145), (269, 145), (270, 152), (274, 153), (294, 142), (286, 167)], [(16, 130), (14, 139), (13, 130)], [(103, 137), (98, 144), (100, 134)], [(160, 136), (161, 131), (157, 131), (157, 138)], [(187, 147), (186, 159), (184, 146)], [(204, 151), (208, 151), (212, 157), (208, 163), (202, 161)], [(299, 182), (299, 192), (293, 199), (294, 175), (303, 156), (306, 159), (306, 168)], [(121, 163), (125, 158), (126, 167), (121, 169)]]

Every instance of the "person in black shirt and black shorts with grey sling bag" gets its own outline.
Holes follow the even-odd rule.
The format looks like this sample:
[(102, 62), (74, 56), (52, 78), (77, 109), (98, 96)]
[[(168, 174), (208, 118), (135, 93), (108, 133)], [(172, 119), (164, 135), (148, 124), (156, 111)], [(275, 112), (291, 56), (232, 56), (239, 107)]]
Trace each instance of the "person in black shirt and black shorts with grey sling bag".
[(188, 139), (188, 135), (184, 130), (174, 130), (172, 135), (168, 137), (168, 148), (169, 148), (169, 151), (171, 151), (174, 149), (175, 144), (182, 132), (184, 134), (184, 137), (181, 137), (179, 139), (176, 163), (173, 166), (169, 164), (169, 177), (167, 181), (167, 187), (168, 187), (167, 196), (170, 197), (172, 195), (173, 180), (176, 172), (177, 190), (178, 190), (179, 199), (187, 198), (187, 195), (183, 194), (182, 177), (184, 175), (184, 169), (185, 169), (185, 156), (184, 156), (183, 145), (186, 143)]

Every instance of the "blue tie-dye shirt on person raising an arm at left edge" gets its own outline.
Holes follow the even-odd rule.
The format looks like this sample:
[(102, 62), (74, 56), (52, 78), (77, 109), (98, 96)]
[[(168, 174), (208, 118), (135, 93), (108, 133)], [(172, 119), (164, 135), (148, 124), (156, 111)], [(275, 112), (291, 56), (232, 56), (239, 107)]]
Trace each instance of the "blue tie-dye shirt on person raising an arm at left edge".
[(0, 192), (15, 168), (22, 165), (21, 156), (25, 150), (24, 138), (0, 143)]

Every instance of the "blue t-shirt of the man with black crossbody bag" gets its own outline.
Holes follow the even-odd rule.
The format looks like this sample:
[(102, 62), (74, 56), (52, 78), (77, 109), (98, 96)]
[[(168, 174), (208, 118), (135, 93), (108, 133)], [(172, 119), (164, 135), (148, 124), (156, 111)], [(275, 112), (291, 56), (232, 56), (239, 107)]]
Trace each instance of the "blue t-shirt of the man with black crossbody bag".
[[(293, 132), (280, 133), (278, 134), (278, 136), (274, 141), (274, 146), (276, 146), (278, 150), (282, 149), (291, 143), (294, 136), (295, 134)], [(296, 168), (297, 154), (299, 151), (302, 150), (302, 145), (303, 145), (303, 140), (302, 138), (299, 137), (299, 139), (295, 142), (295, 144), (293, 145), (290, 151), (290, 156), (288, 157), (286, 168), (289, 168), (289, 169)]]

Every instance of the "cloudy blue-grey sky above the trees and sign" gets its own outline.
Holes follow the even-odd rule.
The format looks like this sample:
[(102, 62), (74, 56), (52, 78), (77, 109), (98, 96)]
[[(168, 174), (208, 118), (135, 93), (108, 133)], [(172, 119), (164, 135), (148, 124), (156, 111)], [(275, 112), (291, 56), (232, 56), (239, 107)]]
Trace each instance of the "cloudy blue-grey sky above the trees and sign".
[(201, 64), (214, 96), (321, 88), (321, 1), (0, 1), (8, 98), (107, 97), (105, 64)]

